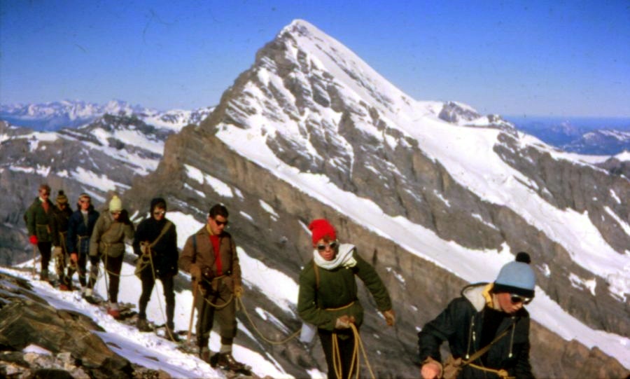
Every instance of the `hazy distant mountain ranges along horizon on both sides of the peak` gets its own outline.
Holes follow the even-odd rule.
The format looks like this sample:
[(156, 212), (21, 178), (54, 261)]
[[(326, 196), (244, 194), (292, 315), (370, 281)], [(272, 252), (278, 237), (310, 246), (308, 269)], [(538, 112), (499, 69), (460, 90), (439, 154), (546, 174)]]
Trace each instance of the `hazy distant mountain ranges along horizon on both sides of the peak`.
[[(478, 117), (474, 111), (460, 109), (462, 104), (449, 103), (440, 118), (451, 120), (451, 112), (468, 115), (466, 122)], [(92, 123), (100, 116), (135, 116), (149, 125), (159, 128), (181, 129), (188, 123), (200, 123), (207, 117), (211, 107), (193, 111), (174, 109), (158, 111), (141, 105), (132, 105), (121, 100), (107, 104), (95, 104), (79, 100), (63, 100), (41, 104), (0, 104), (0, 120), (10, 125), (22, 126), (36, 131), (55, 131), (62, 128), (77, 128)], [(469, 114), (470, 113), (470, 114)], [(472, 116), (471, 116), (472, 114)], [(471, 118), (472, 117), (472, 118)], [(563, 151), (597, 156), (615, 156), (630, 151), (630, 118), (580, 118), (505, 116), (503, 123), (512, 123), (514, 128), (533, 135), (542, 142)]]

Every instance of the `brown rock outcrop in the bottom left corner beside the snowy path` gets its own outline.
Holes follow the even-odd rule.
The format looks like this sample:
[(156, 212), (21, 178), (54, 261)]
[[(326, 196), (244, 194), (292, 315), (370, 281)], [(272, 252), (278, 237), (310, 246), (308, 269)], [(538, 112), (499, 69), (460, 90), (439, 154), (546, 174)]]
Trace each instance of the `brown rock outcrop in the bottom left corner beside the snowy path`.
[[(25, 280), (0, 273), (0, 364), (16, 372), (55, 378), (130, 378), (132, 366), (92, 331), (102, 330), (77, 312), (57, 310), (30, 291)], [(52, 357), (24, 353), (36, 345)], [(55, 372), (51, 372), (55, 371)], [(1, 371), (0, 371), (1, 372)], [(39, 374), (37, 374), (39, 373)], [(56, 376), (59, 375), (59, 376)]]

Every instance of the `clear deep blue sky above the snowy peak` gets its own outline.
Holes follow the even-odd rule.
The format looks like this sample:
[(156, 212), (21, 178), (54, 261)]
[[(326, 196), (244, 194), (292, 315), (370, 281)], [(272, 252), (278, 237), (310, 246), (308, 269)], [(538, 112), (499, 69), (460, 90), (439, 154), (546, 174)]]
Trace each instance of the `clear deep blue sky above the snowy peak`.
[(411, 97), (630, 117), (629, 1), (0, 1), (0, 103), (218, 104), (311, 22)]

